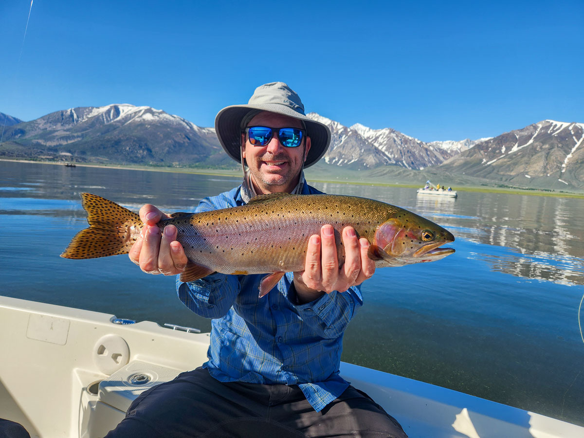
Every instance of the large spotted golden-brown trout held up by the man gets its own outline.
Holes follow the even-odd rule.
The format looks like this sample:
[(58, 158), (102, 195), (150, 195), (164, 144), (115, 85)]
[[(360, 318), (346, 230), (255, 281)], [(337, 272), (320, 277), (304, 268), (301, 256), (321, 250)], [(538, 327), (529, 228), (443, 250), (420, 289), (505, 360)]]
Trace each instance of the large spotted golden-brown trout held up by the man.
[[(81, 199), (89, 228), (78, 232), (61, 257), (127, 254), (144, 227), (140, 216), (95, 194), (82, 193)], [(347, 225), (357, 237), (369, 240), (369, 258), (376, 267), (432, 262), (454, 252), (440, 248), (454, 241), (440, 225), (403, 208), (356, 196), (260, 195), (241, 207), (175, 213), (157, 225), (164, 230), (171, 224), (189, 259), (180, 280), (194, 281), (213, 272), (269, 274), (260, 284), (260, 297), (284, 273), (304, 270), (308, 239), (320, 234), (324, 224), (335, 229), (339, 265), (345, 260), (340, 233)]]

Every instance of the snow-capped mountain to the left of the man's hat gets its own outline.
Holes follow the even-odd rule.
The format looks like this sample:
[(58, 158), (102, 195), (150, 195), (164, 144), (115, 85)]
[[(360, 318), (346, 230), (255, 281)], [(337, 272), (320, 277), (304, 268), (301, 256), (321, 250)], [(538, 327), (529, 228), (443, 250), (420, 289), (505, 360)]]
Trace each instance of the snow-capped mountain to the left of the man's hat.
[(116, 164), (230, 164), (214, 128), (148, 106), (107, 105), (57, 111), (6, 127), (0, 156)]

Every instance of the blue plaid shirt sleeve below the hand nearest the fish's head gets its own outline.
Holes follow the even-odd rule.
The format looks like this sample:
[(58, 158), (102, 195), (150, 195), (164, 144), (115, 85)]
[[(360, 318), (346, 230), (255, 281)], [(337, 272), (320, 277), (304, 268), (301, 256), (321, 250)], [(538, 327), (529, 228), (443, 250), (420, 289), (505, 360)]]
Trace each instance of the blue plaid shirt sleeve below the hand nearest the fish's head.
[[(290, 281), (288, 286), (288, 298), (296, 302), (296, 290), (294, 288), (293, 273), (286, 275)], [(361, 287), (352, 286), (345, 292), (332, 291), (324, 294), (317, 300), (306, 304), (298, 304), (294, 307), (303, 321), (310, 325), (322, 338), (335, 339), (347, 328), (349, 321), (353, 319), (356, 311), (363, 305)]]

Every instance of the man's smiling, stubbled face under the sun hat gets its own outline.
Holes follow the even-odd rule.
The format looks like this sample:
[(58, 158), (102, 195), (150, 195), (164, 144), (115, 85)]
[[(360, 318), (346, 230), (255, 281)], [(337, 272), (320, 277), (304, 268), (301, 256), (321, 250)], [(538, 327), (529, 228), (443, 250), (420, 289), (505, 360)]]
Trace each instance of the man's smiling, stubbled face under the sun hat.
[[(248, 126), (302, 128), (302, 123), (281, 114), (261, 112), (249, 121)], [(300, 168), (310, 150), (310, 138), (305, 138), (303, 144), (296, 148), (282, 146), (276, 133), (265, 146), (252, 145), (245, 134), (242, 135), (241, 141), (243, 155), (258, 194), (290, 193), (294, 190), (300, 177)]]

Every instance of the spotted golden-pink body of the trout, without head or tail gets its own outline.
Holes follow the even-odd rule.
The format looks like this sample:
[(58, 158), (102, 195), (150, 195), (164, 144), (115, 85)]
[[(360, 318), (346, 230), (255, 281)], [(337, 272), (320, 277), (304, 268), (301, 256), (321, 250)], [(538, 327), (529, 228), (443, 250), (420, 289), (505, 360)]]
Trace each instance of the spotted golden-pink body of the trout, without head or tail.
[[(345, 259), (340, 239), (346, 226), (373, 242), (375, 231), (399, 207), (371, 199), (330, 194), (272, 195), (241, 207), (195, 213), (189, 223), (163, 220), (178, 229), (177, 240), (189, 260), (217, 272), (263, 274), (304, 270), (308, 239), (322, 225), (335, 229), (339, 263)], [(409, 213), (409, 212), (408, 212)], [(186, 218), (183, 218), (186, 219)]]

